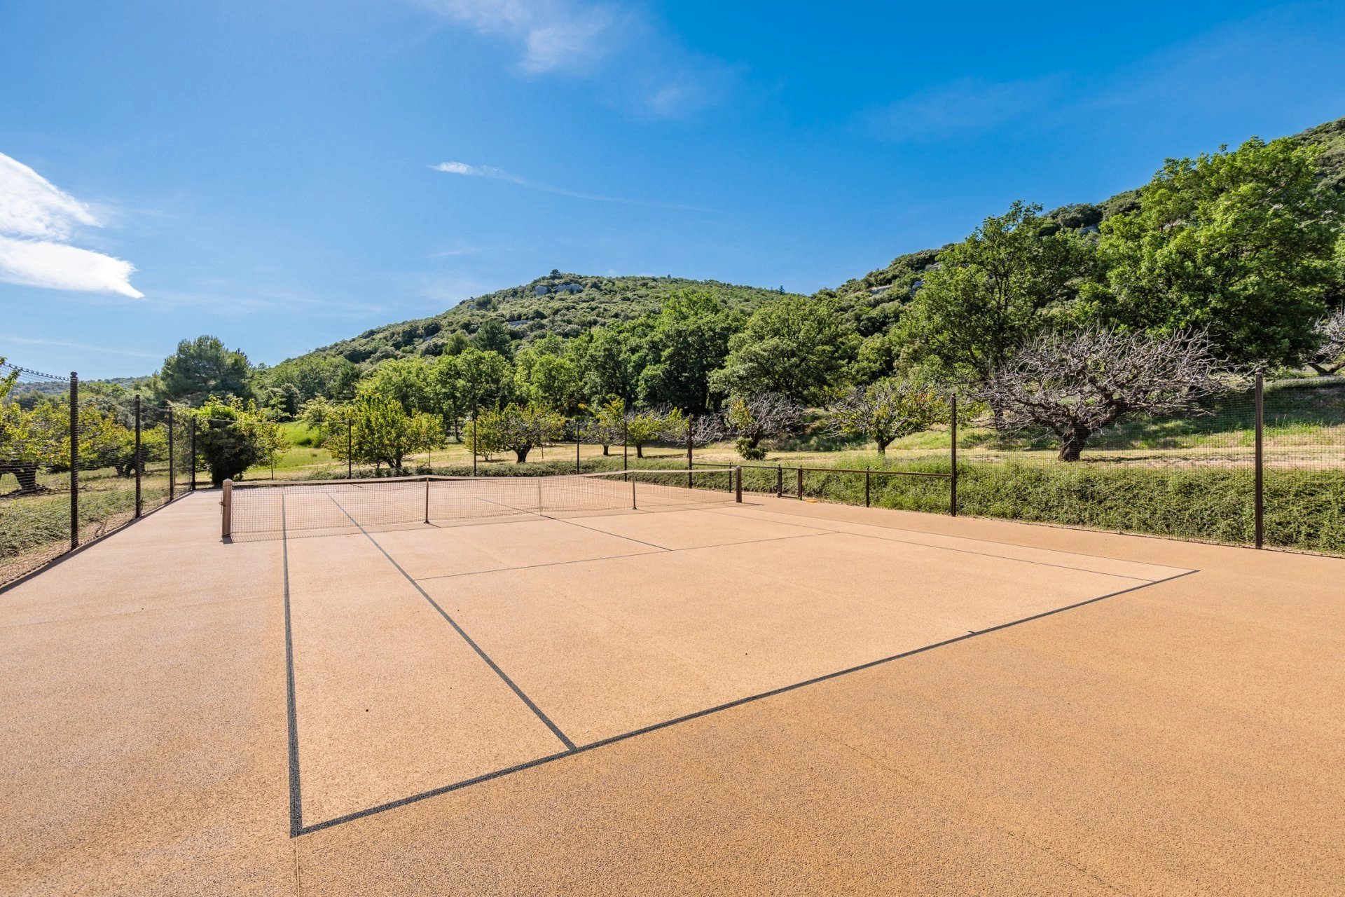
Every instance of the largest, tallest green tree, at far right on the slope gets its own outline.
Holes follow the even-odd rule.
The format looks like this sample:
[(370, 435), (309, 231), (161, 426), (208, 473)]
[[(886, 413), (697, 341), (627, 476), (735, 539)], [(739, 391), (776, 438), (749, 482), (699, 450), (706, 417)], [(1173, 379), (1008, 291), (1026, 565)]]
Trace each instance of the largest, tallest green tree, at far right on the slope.
[(1318, 149), (1252, 139), (1170, 159), (1138, 210), (1102, 226), (1106, 325), (1198, 329), (1241, 364), (1297, 364), (1334, 281), (1340, 219), (1315, 187)]

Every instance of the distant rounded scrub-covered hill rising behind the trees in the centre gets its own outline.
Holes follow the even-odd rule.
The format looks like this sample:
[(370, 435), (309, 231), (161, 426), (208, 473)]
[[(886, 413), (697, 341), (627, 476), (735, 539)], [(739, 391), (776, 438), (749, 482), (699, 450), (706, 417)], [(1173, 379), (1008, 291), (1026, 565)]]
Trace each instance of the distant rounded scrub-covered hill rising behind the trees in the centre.
[(545, 277), (464, 300), (441, 315), (374, 327), (359, 336), (324, 346), (308, 355), (377, 363), (409, 355), (438, 355), (455, 334), (471, 336), (487, 320), (502, 321), (515, 342), (547, 334), (578, 336), (592, 327), (656, 311), (681, 290), (709, 292), (732, 308), (751, 309), (780, 289), (721, 284), (682, 277), (593, 277), (553, 270)]

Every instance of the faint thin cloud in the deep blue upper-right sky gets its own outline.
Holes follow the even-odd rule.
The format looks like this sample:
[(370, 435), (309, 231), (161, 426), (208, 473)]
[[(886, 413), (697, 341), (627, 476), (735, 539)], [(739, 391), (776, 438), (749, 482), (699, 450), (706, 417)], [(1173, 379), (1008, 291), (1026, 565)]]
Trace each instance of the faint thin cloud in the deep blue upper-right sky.
[(993, 130), (1057, 98), (1059, 78), (991, 82), (959, 78), (870, 109), (865, 120), (886, 140), (942, 140)]

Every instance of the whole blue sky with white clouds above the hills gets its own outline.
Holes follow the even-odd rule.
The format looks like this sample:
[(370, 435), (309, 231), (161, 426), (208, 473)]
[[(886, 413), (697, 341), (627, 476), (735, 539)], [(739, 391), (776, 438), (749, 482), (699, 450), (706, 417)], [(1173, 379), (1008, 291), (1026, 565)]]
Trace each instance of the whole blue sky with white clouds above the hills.
[(8, 0), (0, 355), (274, 363), (553, 268), (814, 292), (1345, 116), (1345, 4)]

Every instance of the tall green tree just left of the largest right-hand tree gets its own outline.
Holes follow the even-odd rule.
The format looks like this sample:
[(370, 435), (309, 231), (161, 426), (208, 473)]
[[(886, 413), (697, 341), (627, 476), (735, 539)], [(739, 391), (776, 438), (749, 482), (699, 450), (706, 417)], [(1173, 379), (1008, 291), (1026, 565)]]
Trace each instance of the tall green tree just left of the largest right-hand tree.
[(983, 381), (1060, 315), (1095, 270), (1072, 230), (1015, 202), (939, 256), (898, 325), (911, 360)]

